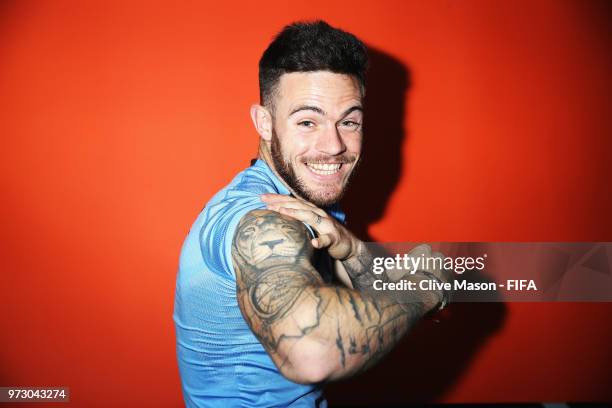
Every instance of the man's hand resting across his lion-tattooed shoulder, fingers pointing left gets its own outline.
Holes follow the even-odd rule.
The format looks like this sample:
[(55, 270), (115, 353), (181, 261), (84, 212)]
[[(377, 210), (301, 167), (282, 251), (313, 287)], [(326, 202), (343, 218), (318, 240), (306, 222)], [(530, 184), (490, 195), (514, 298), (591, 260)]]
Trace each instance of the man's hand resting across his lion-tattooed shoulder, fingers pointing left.
[(278, 211), (314, 228), (319, 236), (312, 239), (313, 247), (327, 248), (329, 255), (340, 261), (356, 255), (361, 241), (319, 207), (281, 194), (263, 194), (260, 198), (269, 210)]

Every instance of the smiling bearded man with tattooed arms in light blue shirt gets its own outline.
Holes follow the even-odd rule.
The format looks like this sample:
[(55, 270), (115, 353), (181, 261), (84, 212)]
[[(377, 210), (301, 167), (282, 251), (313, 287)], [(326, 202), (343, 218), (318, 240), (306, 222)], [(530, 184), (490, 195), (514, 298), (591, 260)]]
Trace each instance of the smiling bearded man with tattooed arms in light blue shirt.
[(326, 381), (376, 363), (443, 303), (440, 292), (373, 291), (388, 278), (343, 226), (366, 67), (365, 46), (322, 21), (285, 27), (264, 52), (251, 107), (259, 158), (211, 199), (181, 253), (174, 320), (187, 406), (326, 406)]

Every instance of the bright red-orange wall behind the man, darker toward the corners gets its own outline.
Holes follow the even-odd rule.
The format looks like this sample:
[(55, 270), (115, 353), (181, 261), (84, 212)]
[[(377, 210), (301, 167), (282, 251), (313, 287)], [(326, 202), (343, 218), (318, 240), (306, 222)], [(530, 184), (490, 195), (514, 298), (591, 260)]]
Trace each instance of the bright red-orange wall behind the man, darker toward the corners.
[[(5, 1), (0, 385), (68, 385), (75, 406), (181, 405), (182, 240), (256, 151), (261, 52), (311, 18), (409, 75), (399, 105), (374, 108), (379, 123), (399, 114), (401, 139), (367, 136), (401, 159), (371, 237), (612, 240), (605, 2)], [(466, 324), (426, 323), (402, 345), (371, 401), (612, 400), (610, 305), (462, 306), (450, 312)], [(355, 381), (332, 401), (367, 402)]]

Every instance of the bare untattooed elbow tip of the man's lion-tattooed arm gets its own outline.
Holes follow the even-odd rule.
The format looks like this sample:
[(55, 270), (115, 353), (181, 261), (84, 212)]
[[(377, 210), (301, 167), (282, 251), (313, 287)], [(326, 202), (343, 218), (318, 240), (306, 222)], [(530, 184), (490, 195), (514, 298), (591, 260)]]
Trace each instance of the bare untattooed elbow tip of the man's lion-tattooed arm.
[(315, 384), (329, 380), (338, 369), (333, 350), (316, 340), (302, 339), (287, 354), (287, 363), (280, 371), (288, 380)]

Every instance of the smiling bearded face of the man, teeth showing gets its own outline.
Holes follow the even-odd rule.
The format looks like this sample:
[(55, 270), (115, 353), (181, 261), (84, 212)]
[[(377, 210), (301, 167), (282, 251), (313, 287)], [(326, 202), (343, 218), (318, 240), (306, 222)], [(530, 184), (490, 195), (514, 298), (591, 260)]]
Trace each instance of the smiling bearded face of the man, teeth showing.
[(327, 71), (283, 74), (274, 98), (271, 153), (276, 171), (316, 206), (336, 203), (361, 155), (358, 81)]

